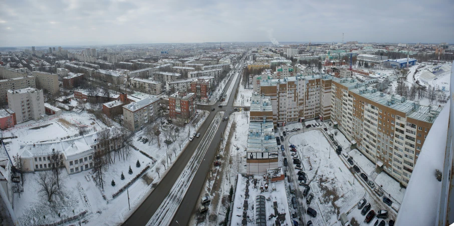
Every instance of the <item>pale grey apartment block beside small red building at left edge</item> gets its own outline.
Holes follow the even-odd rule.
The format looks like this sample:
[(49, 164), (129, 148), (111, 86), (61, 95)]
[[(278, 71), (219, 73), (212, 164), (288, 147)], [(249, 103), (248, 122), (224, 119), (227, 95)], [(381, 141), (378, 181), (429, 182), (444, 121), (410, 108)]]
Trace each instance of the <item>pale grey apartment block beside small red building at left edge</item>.
[(46, 114), (43, 90), (36, 88), (10, 89), (7, 95), (8, 106), (16, 113), (17, 123), (32, 119), (37, 121), (42, 114)]

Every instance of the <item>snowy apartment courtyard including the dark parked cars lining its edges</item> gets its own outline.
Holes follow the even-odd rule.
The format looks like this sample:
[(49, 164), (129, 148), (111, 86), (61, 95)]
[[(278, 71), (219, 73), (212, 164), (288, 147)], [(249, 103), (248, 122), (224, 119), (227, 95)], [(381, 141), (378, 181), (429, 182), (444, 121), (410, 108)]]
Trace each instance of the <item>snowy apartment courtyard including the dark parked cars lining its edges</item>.
[[(276, 135), (281, 150), (284, 149), (286, 182), (294, 189), (291, 192), (288, 186), (289, 205), (295, 207), (294, 219), (300, 225), (335, 225), (343, 215), (352, 225), (369, 225), (378, 219), (380, 212), (382, 218), (376, 225), (392, 225), (396, 212), (384, 197), (380, 198), (383, 189), (376, 187), (346, 153), (349, 147), (346, 150), (341, 145), (345, 141), (339, 143), (334, 134), (331, 138), (324, 123), (310, 125), (292, 132), (287, 130), (286, 137), (280, 137), (283, 132)], [(365, 206), (368, 207), (362, 214)]]

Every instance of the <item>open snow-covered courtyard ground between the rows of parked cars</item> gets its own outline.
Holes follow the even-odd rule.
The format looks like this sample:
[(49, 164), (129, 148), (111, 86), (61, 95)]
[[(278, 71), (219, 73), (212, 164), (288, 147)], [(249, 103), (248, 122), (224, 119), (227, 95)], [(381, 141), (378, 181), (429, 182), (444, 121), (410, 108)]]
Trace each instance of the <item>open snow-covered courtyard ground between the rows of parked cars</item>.
[[(306, 215), (314, 225), (332, 225), (343, 212), (348, 212), (365, 195), (364, 187), (357, 181), (341, 160), (341, 156), (331, 148), (323, 133), (309, 130), (290, 137), (290, 143), (297, 146), (304, 168), (314, 193), (310, 207), (317, 211), (317, 216)], [(304, 152), (304, 155), (303, 155)], [(295, 169), (294, 173), (297, 173)], [(299, 186), (299, 189), (303, 189)], [(361, 220), (362, 221), (362, 220)]]

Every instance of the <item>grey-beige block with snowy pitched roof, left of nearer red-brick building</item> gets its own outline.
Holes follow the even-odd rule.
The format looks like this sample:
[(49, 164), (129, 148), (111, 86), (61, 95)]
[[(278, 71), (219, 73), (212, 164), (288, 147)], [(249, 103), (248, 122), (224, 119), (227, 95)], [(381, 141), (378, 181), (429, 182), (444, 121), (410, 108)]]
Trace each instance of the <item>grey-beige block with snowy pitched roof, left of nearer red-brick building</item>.
[(148, 96), (123, 106), (124, 126), (130, 131), (142, 129), (159, 113), (159, 98)]

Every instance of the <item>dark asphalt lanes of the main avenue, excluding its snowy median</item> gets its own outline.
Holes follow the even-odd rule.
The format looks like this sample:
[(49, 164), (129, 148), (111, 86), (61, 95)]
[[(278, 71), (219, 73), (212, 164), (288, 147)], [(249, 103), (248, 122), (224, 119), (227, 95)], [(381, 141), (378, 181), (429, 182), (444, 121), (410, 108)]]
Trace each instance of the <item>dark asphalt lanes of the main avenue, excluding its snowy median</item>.
[[(240, 62), (244, 62), (244, 58), (241, 59)], [(243, 65), (243, 63), (241, 63), (239, 65), (239, 68), (242, 69), (242, 65)], [(225, 87), (224, 87), (225, 92), (230, 87), (230, 84), (232, 83), (232, 79), (234, 77), (235, 76), (232, 75), (231, 78), (229, 79), (228, 83), (225, 85)], [(234, 90), (236, 90), (238, 87), (240, 77), (241, 76), (238, 76), (237, 80), (235, 81)], [(160, 206), (161, 202), (164, 200), (164, 198), (169, 193), (169, 191), (172, 188), (175, 181), (178, 179), (182, 170), (186, 166), (188, 160), (191, 158), (195, 149), (197, 148), (200, 141), (202, 140), (201, 137), (205, 136), (205, 132), (206, 132), (208, 126), (211, 124), (211, 122), (214, 118), (214, 115), (218, 111), (224, 111), (225, 112), (224, 117), (228, 116), (229, 113), (234, 110), (234, 108), (232, 107), (234, 100), (235, 100), (235, 91), (232, 91), (231, 96), (229, 98), (229, 103), (226, 106), (217, 107), (217, 105), (220, 104), (220, 101), (217, 101), (213, 105), (197, 105), (198, 109), (204, 109), (204, 110), (209, 110), (209, 111), (211, 111), (212, 107), (214, 107), (214, 109), (215, 109), (214, 111), (211, 111), (211, 113), (207, 115), (207, 118), (205, 119), (203, 124), (198, 129), (198, 132), (200, 132), (200, 137), (194, 138), (191, 142), (189, 142), (189, 144), (186, 146), (186, 148), (183, 150), (183, 152), (180, 154), (180, 156), (177, 158), (177, 160), (173, 163), (172, 167), (170, 167), (169, 171), (161, 179), (161, 181), (158, 183), (158, 185), (154, 188), (154, 190), (150, 193), (150, 195), (148, 195), (148, 197), (142, 202), (142, 204), (140, 204), (139, 207), (131, 214), (131, 216), (129, 216), (129, 218), (123, 223), (123, 225), (146, 225), (147, 224), (147, 222), (150, 220), (150, 218), (153, 216), (153, 214), (156, 212), (156, 210)], [(193, 180), (192, 180), (191, 184), (189, 185), (189, 188), (188, 188), (184, 198), (182, 199), (180, 206), (177, 209), (174, 219), (171, 221), (172, 225), (173, 224), (178, 225), (178, 223), (176, 223), (175, 220), (177, 220), (180, 225), (186, 225), (188, 223), (190, 216), (191, 216), (191, 210), (193, 209), (194, 205), (198, 203), (198, 201), (196, 199), (198, 198), (198, 194), (200, 193), (200, 190), (202, 189), (203, 182), (208, 173), (209, 165), (210, 165), (212, 159), (214, 158), (214, 150), (220, 141), (220, 134), (222, 131), (224, 131), (226, 125), (227, 125), (227, 122), (222, 121), (221, 124), (219, 125), (219, 128), (214, 133), (211, 144), (209, 145), (208, 150), (204, 156), (204, 159), (207, 163), (200, 164), (199, 168), (197, 169), (197, 172), (195, 173)], [(191, 209), (191, 210), (188, 210), (188, 209)]]

